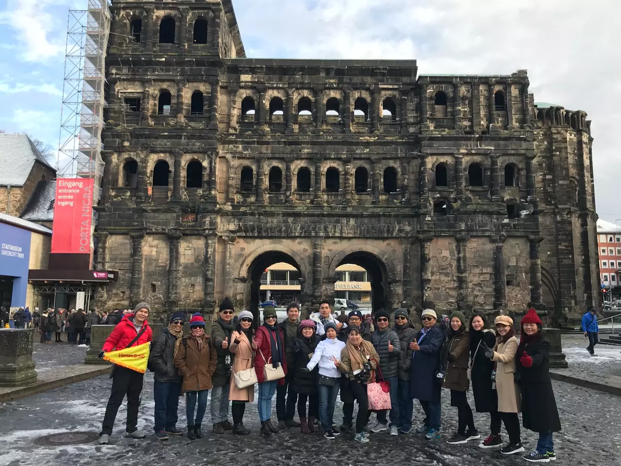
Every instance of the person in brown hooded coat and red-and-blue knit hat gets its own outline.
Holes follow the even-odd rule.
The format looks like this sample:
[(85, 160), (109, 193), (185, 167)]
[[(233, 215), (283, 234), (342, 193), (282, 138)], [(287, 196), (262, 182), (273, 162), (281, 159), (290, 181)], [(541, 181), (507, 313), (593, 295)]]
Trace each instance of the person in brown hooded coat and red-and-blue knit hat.
[[(175, 320), (179, 320), (178, 316)], [(183, 327), (181, 328), (183, 331)], [(204, 437), (201, 430), (202, 418), (207, 409), (207, 395), (209, 389), (213, 387), (212, 376), (218, 361), (215, 347), (212, 347), (211, 339), (205, 333), (205, 321), (201, 314), (196, 313), (192, 316), (189, 337), (176, 340), (175, 347), (175, 367), (179, 368), (179, 373), (183, 377), (181, 388), (186, 392), (188, 439), (202, 439)], [(194, 416), (195, 407), (196, 416)]]

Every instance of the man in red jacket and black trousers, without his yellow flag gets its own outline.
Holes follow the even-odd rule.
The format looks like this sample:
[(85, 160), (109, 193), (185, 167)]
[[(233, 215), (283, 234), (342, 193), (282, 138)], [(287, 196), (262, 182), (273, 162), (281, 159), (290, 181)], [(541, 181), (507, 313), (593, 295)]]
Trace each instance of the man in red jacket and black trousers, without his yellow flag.
[[(147, 318), (149, 316), (149, 305), (139, 303), (134, 309), (133, 314), (127, 314), (122, 321), (114, 327), (112, 333), (104, 343), (99, 357), (103, 357), (109, 351), (122, 350), (130, 346), (138, 346), (152, 340), (153, 332)], [(106, 406), (104, 422), (99, 434), (99, 443), (106, 445), (112, 435), (114, 419), (116, 419), (119, 406), (123, 398), (127, 395), (127, 424), (125, 431), (127, 437), (143, 439), (146, 434), (138, 432), (138, 408), (140, 406), (140, 393), (142, 392), (142, 380), (144, 374), (125, 367), (117, 366), (112, 378), (112, 393)]]

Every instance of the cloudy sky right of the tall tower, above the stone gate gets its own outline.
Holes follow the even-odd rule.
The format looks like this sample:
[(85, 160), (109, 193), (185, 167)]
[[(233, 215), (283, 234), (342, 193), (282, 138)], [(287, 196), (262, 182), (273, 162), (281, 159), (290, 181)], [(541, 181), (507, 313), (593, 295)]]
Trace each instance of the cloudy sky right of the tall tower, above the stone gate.
[[(249, 57), (418, 60), (419, 74), (527, 69), (535, 101), (592, 119), (597, 208), (621, 217), (618, 0), (233, 0)], [(269, 27), (266, 27), (269, 25)]]

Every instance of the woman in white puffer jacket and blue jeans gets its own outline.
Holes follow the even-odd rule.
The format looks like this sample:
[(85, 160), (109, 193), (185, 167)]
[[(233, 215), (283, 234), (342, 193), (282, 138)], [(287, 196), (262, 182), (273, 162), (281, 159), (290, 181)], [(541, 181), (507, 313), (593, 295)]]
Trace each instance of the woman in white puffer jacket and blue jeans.
[(334, 322), (326, 322), (324, 330), (325, 340), (319, 342), (306, 368), (313, 370), (319, 364), (319, 420), (324, 429), (324, 437), (334, 439), (340, 434), (332, 425), (332, 418), (340, 387), (341, 373), (338, 372), (338, 365), (341, 363), (341, 351), (345, 348), (345, 343), (337, 339), (337, 326)]

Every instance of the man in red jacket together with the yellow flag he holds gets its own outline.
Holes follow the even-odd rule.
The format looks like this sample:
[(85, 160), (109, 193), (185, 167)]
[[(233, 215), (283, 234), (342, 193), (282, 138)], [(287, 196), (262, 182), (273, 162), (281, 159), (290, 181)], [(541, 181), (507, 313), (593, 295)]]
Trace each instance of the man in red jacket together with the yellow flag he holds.
[[(138, 408), (140, 406), (140, 393), (142, 392), (142, 380), (149, 359), (149, 343), (153, 332), (147, 318), (149, 305), (139, 303), (133, 314), (127, 314), (122, 321), (114, 327), (112, 333), (104, 343), (99, 357), (114, 362), (114, 375), (112, 375), (112, 393), (106, 406), (104, 422), (99, 434), (99, 443), (107, 444), (112, 435), (114, 419), (116, 419), (119, 406), (127, 395), (127, 424), (125, 431), (127, 437), (143, 439), (146, 435), (138, 432)], [(116, 351), (113, 351), (115, 350)]]

